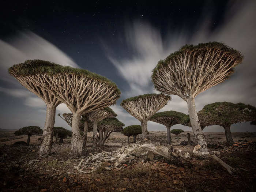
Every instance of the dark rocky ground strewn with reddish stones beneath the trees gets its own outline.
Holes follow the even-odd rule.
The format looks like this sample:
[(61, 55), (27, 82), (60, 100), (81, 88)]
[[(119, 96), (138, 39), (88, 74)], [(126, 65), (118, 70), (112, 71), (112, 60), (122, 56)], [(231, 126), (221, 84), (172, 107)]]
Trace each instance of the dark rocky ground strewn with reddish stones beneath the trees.
[[(181, 136), (184, 138), (181, 141), (185, 136)], [(115, 161), (109, 159), (124, 149), (126, 137), (113, 135), (95, 153), (91, 153), (90, 139), (86, 155), (80, 158), (69, 156), (68, 139), (63, 144), (53, 144), (53, 154), (47, 158), (38, 156), (39, 145), (2, 146), (0, 191), (256, 191), (256, 143), (253, 139), (238, 141), (234, 138), (237, 141), (231, 147), (226, 147), (225, 142), (207, 139), (209, 150), (220, 151), (221, 159), (237, 169), (234, 176), (213, 161), (193, 157), (190, 163), (183, 165), (147, 153), (116, 169)], [(153, 132), (150, 139), (164, 143), (165, 135)], [(193, 146), (180, 145), (174, 136), (172, 142), (174, 147), (193, 156)]]

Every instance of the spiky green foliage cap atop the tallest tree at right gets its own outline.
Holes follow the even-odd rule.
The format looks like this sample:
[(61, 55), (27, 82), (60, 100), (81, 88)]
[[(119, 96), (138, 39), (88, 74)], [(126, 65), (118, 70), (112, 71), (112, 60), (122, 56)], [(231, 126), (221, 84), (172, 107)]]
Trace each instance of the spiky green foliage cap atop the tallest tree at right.
[[(205, 49), (208, 49), (208, 48), (221, 49), (221, 50), (223, 50), (223, 52), (226, 53), (227, 56), (230, 55), (233, 58), (236, 58), (237, 59), (237, 64), (242, 63), (243, 56), (242, 56), (241, 52), (239, 52), (236, 49), (231, 48), (230, 46), (227, 46), (224, 43), (221, 43), (221, 42), (208, 42), (208, 43), (200, 43), (200, 44), (197, 44), (197, 45), (189, 45), (189, 44), (187, 44), (187, 45), (182, 46), (178, 51), (176, 51), (174, 53), (171, 53), (169, 56), (166, 57), (165, 60), (158, 61), (158, 64), (156, 65), (156, 67), (152, 71), (153, 74), (152, 74), (151, 78), (153, 79), (153, 77), (155, 76), (156, 72), (161, 67), (167, 66), (168, 62), (170, 60), (172, 60), (172, 58), (179, 57), (182, 53), (187, 52), (187, 51), (188, 52), (194, 52), (194, 51), (200, 52), (200, 50), (205, 50)], [(233, 73), (234, 72), (234, 68), (231, 68), (230, 72)]]

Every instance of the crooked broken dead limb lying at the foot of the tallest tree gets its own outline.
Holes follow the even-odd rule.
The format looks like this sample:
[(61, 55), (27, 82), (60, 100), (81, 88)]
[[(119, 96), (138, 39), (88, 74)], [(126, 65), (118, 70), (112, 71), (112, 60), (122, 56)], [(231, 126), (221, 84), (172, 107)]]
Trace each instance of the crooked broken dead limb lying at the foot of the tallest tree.
[[(223, 166), (227, 172), (229, 172), (231, 175), (234, 174), (234, 172), (236, 172), (236, 169), (234, 169), (233, 167), (227, 165), (225, 162), (223, 162), (219, 157), (221, 157), (221, 154), (219, 153), (219, 151), (211, 151), (211, 152), (200, 152), (200, 145), (198, 144), (197, 146), (194, 147), (193, 149), (193, 154), (195, 154), (196, 156), (199, 157), (204, 157), (204, 158), (212, 158), (215, 161), (217, 161), (219, 164), (221, 164), (221, 166)], [(217, 157), (218, 156), (218, 157)]]

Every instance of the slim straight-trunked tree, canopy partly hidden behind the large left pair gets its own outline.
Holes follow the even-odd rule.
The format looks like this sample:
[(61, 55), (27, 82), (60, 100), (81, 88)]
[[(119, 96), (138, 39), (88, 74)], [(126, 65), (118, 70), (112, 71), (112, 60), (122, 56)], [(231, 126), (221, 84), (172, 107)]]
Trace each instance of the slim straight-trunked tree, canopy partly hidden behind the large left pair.
[(86, 114), (87, 118), (90, 121), (93, 121), (93, 150), (96, 149), (97, 146), (97, 126), (98, 122), (102, 121), (105, 118), (113, 118), (116, 117), (117, 114), (110, 108), (99, 109)]

